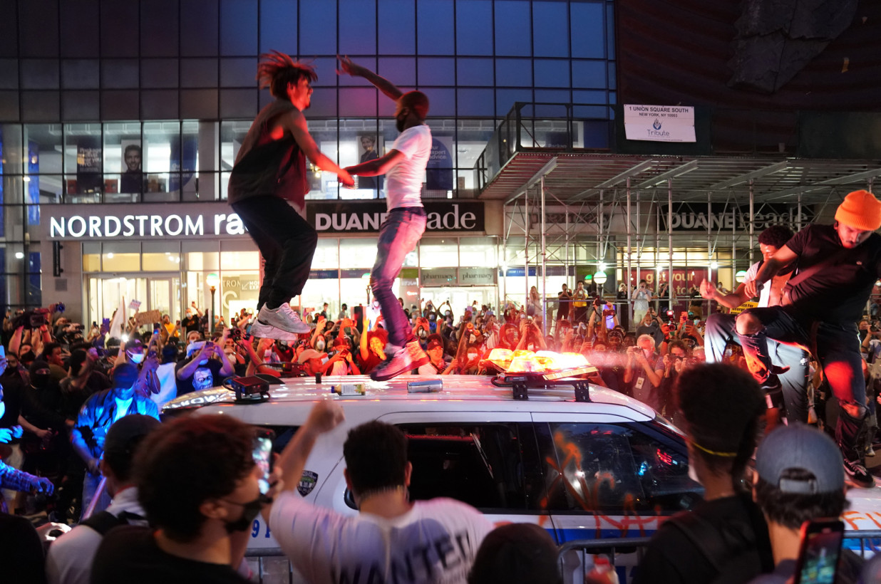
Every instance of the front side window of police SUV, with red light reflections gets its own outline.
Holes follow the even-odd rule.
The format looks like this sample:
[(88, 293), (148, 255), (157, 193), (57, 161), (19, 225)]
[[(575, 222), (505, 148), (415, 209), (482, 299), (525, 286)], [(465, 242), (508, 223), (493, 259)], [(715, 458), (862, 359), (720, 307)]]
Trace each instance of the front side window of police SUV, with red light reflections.
[[(628, 425), (550, 424), (544, 440), (548, 507), (670, 514), (701, 499), (685, 452)], [(544, 434), (543, 431), (539, 431)]]

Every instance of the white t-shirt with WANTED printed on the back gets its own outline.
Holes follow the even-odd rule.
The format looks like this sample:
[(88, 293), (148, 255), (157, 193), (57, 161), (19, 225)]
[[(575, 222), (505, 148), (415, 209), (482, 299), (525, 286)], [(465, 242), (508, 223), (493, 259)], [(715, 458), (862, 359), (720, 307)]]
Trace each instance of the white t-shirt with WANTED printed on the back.
[(311, 584), (464, 584), (492, 523), (455, 499), (417, 501), (394, 519), (345, 516), (296, 492), (272, 504), (270, 532)]

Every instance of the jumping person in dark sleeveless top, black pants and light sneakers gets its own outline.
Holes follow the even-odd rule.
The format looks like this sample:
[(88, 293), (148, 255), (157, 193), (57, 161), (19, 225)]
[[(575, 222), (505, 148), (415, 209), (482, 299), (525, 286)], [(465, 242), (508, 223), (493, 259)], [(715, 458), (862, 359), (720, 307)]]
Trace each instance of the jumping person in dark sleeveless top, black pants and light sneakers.
[(317, 78), (315, 70), (288, 55), (261, 55), (257, 79), (276, 100), (248, 129), (229, 179), (229, 203), (263, 255), (254, 336), (292, 340), (292, 334), (309, 331), (289, 304), (306, 284), (318, 244), (315, 228), (304, 218), (306, 159), (337, 174), (344, 185), (354, 185), (352, 176), (322, 154), (309, 135), (302, 112), (311, 104)]

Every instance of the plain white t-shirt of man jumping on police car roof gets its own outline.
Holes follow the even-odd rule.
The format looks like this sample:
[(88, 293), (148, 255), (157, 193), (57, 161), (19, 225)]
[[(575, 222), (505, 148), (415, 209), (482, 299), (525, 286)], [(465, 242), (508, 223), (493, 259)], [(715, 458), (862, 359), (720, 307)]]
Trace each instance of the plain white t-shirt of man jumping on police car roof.
[(389, 211), (398, 207), (422, 206), (422, 181), (432, 153), (432, 130), (425, 124), (401, 132), (391, 145), (402, 152), (403, 161), (386, 173), (386, 205)]

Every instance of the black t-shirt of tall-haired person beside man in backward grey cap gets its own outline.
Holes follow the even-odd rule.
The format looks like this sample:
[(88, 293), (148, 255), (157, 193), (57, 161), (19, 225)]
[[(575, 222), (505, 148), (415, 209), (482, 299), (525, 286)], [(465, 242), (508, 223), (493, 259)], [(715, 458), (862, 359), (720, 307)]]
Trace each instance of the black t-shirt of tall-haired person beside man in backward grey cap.
[[(691, 513), (707, 521), (720, 534), (736, 534), (733, 539), (737, 544), (731, 544), (732, 536), (719, 540), (723, 542), (722, 549), (730, 551), (731, 555), (727, 558), (716, 558), (716, 561), (729, 570), (718, 573), (697, 544), (673, 525), (673, 521), (667, 521), (648, 543), (645, 558), (634, 574), (633, 584), (748, 582), (759, 573), (770, 571), (774, 566), (765, 520), (759, 507), (748, 497), (724, 497), (705, 501)], [(707, 536), (700, 539), (705, 544), (716, 543), (709, 541)], [(740, 545), (744, 540), (751, 541), (751, 545)], [(737, 548), (739, 550), (736, 551)]]

